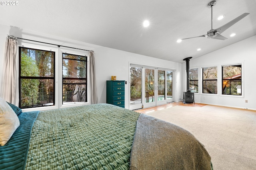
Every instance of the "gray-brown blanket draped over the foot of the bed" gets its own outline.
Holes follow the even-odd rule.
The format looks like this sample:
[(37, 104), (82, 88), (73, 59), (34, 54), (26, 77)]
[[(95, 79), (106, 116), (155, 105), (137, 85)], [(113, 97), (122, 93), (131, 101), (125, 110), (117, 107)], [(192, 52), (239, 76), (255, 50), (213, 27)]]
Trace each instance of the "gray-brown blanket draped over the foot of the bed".
[(130, 156), (130, 170), (211, 168), (208, 152), (191, 133), (154, 117), (144, 114), (139, 116)]

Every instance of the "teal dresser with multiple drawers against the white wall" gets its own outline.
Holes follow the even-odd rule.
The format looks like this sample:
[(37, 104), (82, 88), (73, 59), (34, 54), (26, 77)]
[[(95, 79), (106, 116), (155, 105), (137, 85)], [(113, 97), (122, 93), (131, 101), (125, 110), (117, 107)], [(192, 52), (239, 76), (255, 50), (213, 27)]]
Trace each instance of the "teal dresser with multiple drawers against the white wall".
[(124, 107), (124, 85), (125, 81), (107, 81), (107, 103)]

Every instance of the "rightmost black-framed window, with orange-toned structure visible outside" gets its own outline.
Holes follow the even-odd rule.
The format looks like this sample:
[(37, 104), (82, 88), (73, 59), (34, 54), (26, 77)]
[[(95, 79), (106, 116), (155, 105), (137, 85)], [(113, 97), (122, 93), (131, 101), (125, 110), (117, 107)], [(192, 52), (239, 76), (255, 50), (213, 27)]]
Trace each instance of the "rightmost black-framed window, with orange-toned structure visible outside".
[(222, 94), (242, 95), (242, 64), (222, 66)]

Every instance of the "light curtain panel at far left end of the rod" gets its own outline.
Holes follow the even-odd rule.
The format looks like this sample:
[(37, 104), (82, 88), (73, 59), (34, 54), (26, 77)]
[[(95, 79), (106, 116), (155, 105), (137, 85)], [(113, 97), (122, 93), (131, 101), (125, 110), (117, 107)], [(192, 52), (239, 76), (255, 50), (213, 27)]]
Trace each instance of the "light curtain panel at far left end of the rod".
[(6, 38), (3, 74), (2, 74), (2, 88), (1, 97), (9, 103), (18, 106), (18, 91), (16, 85), (18, 84), (17, 66), (18, 60), (16, 56), (18, 41), (14, 36)]

